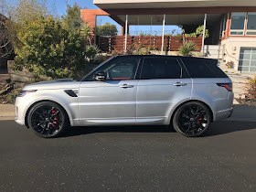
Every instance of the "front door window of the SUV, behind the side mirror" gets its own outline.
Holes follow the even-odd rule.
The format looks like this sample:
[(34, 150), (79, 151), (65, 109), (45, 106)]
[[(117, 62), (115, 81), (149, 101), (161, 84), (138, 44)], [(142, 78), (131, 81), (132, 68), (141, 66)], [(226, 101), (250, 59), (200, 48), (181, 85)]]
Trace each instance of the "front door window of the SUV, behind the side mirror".
[(100, 68), (95, 69), (85, 80), (92, 80), (94, 72), (103, 70), (106, 80), (133, 80), (140, 58), (117, 57), (109, 60)]

